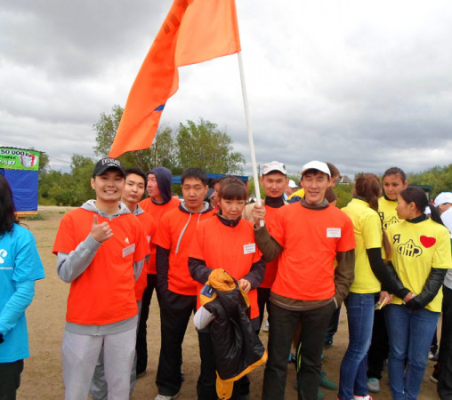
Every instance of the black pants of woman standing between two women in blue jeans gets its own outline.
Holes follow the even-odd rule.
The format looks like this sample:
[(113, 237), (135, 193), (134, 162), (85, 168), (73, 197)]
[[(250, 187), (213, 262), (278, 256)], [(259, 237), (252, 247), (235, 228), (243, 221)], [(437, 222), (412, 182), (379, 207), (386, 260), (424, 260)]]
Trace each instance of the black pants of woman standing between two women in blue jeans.
[[(375, 295), (375, 302), (380, 294)], [(384, 360), (389, 354), (389, 338), (384, 320), (384, 308), (375, 309), (374, 327), (372, 328), (372, 341), (367, 353), (367, 378), (382, 379)]]

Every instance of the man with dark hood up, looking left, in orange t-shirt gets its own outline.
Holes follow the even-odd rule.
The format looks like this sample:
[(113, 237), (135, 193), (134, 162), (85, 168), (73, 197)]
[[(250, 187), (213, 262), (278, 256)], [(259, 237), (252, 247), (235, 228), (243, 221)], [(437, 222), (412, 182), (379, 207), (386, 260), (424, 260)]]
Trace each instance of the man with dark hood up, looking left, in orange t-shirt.
[[(145, 212), (152, 216), (157, 228), (162, 216), (166, 212), (177, 208), (181, 203), (179, 199), (172, 197), (171, 183), (171, 171), (165, 167), (153, 168), (147, 173), (146, 189), (148, 190), (149, 198), (142, 200), (139, 204)], [(147, 321), (150, 300), (157, 284), (155, 244), (151, 244), (150, 247), (147, 273), (147, 285), (142, 295), (141, 315), (136, 337), (136, 375), (138, 378), (146, 372), (148, 365)]]

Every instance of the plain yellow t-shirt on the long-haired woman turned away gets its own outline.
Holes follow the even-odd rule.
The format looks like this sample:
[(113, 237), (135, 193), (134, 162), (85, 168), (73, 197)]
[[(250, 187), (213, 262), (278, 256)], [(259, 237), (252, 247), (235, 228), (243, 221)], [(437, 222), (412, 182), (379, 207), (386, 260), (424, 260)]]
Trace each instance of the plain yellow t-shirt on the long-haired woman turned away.
[(355, 233), (355, 280), (350, 292), (376, 293), (380, 292), (381, 284), (370, 268), (366, 249), (382, 247), (382, 223), (375, 210), (369, 204), (357, 198), (344, 207), (345, 212), (353, 222)]

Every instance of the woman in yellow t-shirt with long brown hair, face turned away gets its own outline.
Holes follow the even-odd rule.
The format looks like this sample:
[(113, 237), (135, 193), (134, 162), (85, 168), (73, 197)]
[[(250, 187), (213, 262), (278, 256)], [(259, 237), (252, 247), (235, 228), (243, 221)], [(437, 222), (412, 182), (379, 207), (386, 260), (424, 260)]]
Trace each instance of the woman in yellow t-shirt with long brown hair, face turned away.
[(396, 287), (394, 271), (382, 259), (383, 230), (377, 212), (380, 193), (381, 185), (376, 175), (359, 175), (353, 198), (343, 208), (353, 222), (356, 249), (355, 279), (344, 300), (350, 341), (341, 364), (340, 400), (370, 399), (367, 390), (367, 350), (374, 323), (375, 294), (381, 291), (381, 282), (390, 292), (403, 287), (401, 284)]

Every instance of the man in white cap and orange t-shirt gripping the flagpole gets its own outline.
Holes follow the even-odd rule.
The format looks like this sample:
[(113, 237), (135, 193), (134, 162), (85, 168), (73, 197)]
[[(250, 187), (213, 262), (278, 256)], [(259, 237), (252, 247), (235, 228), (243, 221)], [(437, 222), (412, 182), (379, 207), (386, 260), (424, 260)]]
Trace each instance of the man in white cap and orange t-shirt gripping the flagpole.
[(258, 223), (264, 218), (265, 209), (254, 207), (256, 243), (266, 260), (279, 255), (278, 272), (270, 292), (264, 400), (284, 398), (287, 356), (299, 322), (302, 362), (297, 372), (298, 396), (317, 398), (327, 326), (353, 282), (356, 246), (353, 225), (344, 212), (328, 204), (325, 194), (329, 180), (326, 163), (305, 164), (304, 197), (278, 210), (271, 236)]

